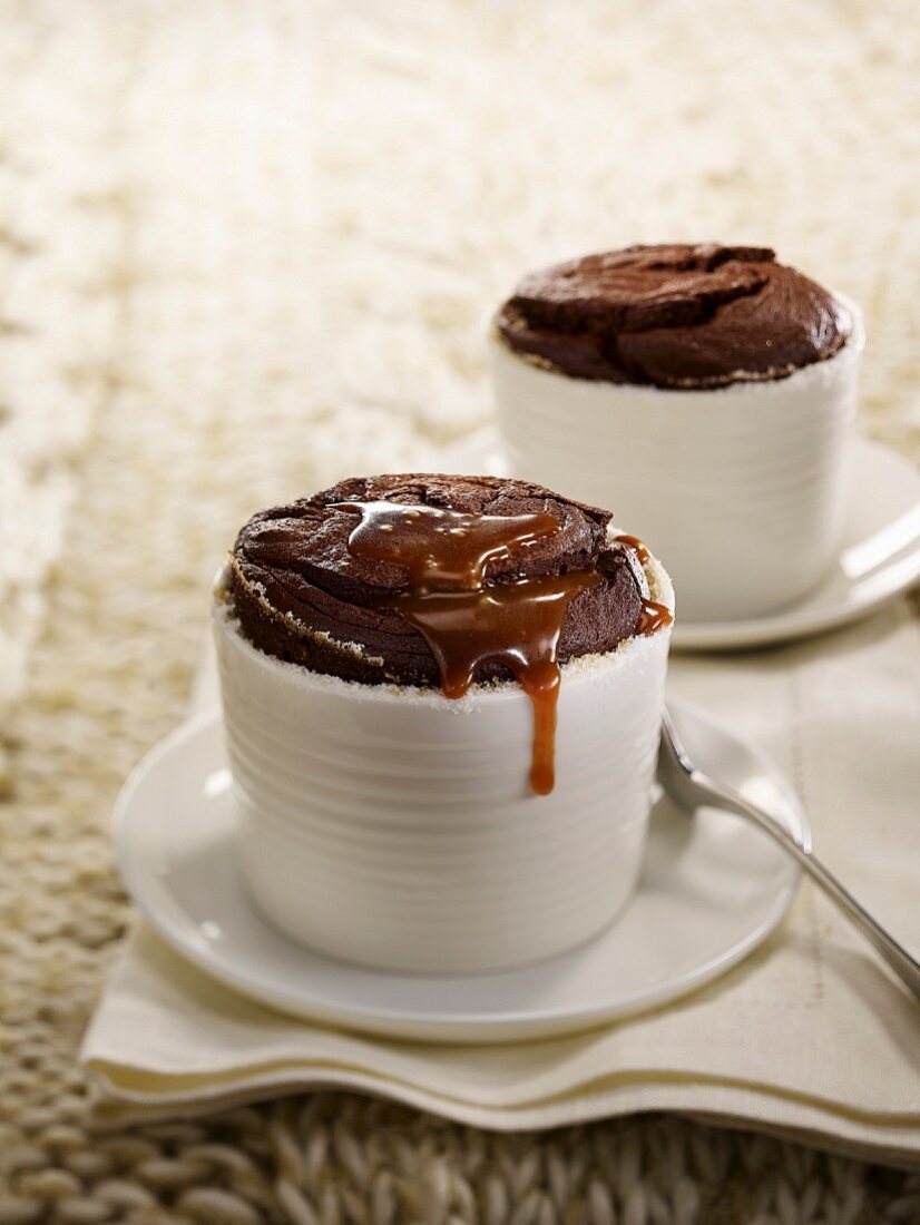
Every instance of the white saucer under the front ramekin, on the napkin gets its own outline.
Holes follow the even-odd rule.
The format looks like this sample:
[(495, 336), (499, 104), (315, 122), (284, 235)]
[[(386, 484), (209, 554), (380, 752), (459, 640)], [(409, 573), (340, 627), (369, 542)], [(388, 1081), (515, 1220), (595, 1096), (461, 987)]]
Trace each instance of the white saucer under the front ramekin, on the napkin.
[[(756, 796), (800, 840), (809, 829), (783, 775), (752, 748), (674, 707), (698, 762)], [(183, 956), (283, 1012), (435, 1041), (502, 1041), (584, 1029), (660, 1005), (722, 974), (777, 926), (797, 870), (756, 828), (715, 809), (695, 817), (660, 799), (638, 892), (601, 936), (501, 974), (381, 974), (292, 943), (244, 893), (219, 719), (158, 745), (115, 807), (118, 862), (145, 916)]]

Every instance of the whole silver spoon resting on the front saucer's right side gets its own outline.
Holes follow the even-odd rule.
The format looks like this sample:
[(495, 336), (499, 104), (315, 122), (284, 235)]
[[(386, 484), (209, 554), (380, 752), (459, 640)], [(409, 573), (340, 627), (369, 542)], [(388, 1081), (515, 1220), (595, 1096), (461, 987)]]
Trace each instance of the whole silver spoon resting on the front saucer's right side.
[(891, 965), (898, 978), (920, 1000), (920, 964), (905, 948), (889, 936), (881, 924), (856, 902), (849, 889), (833, 876), (824, 865), (812, 855), (810, 848), (799, 845), (778, 821), (774, 821), (763, 809), (751, 804), (734, 788), (709, 778), (687, 756), (680, 742), (668, 710), (662, 718), (662, 751), (658, 755), (658, 782), (682, 809), (695, 812), (703, 805), (726, 809), (741, 817), (747, 817), (766, 831), (788, 851), (801, 867), (817, 882), (828, 898), (846, 915), (877, 953)]

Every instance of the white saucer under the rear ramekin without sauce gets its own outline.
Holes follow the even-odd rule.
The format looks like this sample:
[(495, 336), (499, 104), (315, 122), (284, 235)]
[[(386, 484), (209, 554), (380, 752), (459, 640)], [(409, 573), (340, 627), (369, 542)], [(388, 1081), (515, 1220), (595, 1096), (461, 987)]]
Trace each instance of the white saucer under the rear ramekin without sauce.
[[(448, 472), (508, 474), (501, 441), (481, 430), (445, 457)], [(663, 559), (665, 566), (668, 559)], [(920, 579), (920, 474), (891, 447), (858, 439), (853, 488), (837, 565), (807, 599), (751, 621), (687, 622), (671, 636), (676, 650), (735, 650), (806, 638), (865, 616)]]

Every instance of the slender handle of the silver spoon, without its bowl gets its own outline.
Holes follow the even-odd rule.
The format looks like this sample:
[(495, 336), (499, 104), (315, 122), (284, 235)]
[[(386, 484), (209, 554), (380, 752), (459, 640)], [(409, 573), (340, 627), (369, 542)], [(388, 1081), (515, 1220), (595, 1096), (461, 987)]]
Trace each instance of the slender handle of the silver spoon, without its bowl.
[(761, 829), (788, 850), (793, 859), (797, 860), (801, 867), (811, 876), (812, 881), (859, 927), (870, 944), (884, 958), (902, 982), (920, 1000), (920, 964), (872, 918), (865, 907), (860, 905), (833, 872), (829, 872), (821, 860), (815, 858), (810, 848), (801, 846), (779, 822), (774, 821), (762, 809), (758, 809), (756, 804), (751, 804), (731, 788), (717, 783), (715, 779), (709, 778), (702, 771), (693, 768), (690, 778), (696, 788), (708, 793), (720, 809), (729, 809), (742, 817), (750, 817)]

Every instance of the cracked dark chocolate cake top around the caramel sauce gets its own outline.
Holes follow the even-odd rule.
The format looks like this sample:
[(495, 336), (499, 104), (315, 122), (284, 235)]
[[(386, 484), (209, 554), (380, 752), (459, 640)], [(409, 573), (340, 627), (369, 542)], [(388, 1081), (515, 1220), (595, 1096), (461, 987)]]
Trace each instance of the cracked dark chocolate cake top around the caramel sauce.
[[(572, 571), (600, 576), (566, 609), (560, 663), (611, 650), (637, 632), (648, 588), (635, 550), (608, 541), (609, 512), (523, 480), (354, 477), (312, 497), (261, 511), (233, 548), (228, 598), (244, 635), (277, 659), (371, 685), (440, 684), (423, 635), (385, 606), (405, 589), (405, 571), (349, 551), (361, 513), (334, 505), (342, 502), (398, 502), (489, 516), (548, 513), (559, 530), (494, 557), (486, 583)], [(507, 679), (510, 673), (500, 664), (485, 664), (477, 680), (496, 677)]]

